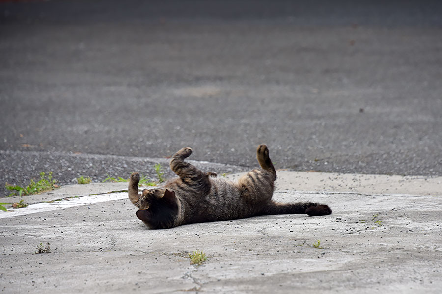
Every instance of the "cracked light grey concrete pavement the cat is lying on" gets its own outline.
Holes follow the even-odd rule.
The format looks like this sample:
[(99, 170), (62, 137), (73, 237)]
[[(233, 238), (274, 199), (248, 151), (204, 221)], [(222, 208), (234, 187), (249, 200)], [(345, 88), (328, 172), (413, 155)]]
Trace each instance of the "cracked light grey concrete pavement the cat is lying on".
[[(261, 216), (169, 230), (148, 230), (125, 192), (109, 193), (124, 189), (125, 183), (63, 187), (30, 202), (39, 202), (38, 197), (91, 199), (88, 195), (97, 193), (119, 200), (21, 216), (1, 212), (0, 289), (439, 293), (441, 179), (278, 171), (276, 199), (323, 202), (333, 213)], [(50, 254), (34, 254), (40, 242), (50, 243)], [(187, 254), (193, 250), (207, 254), (202, 266), (190, 264)]]

